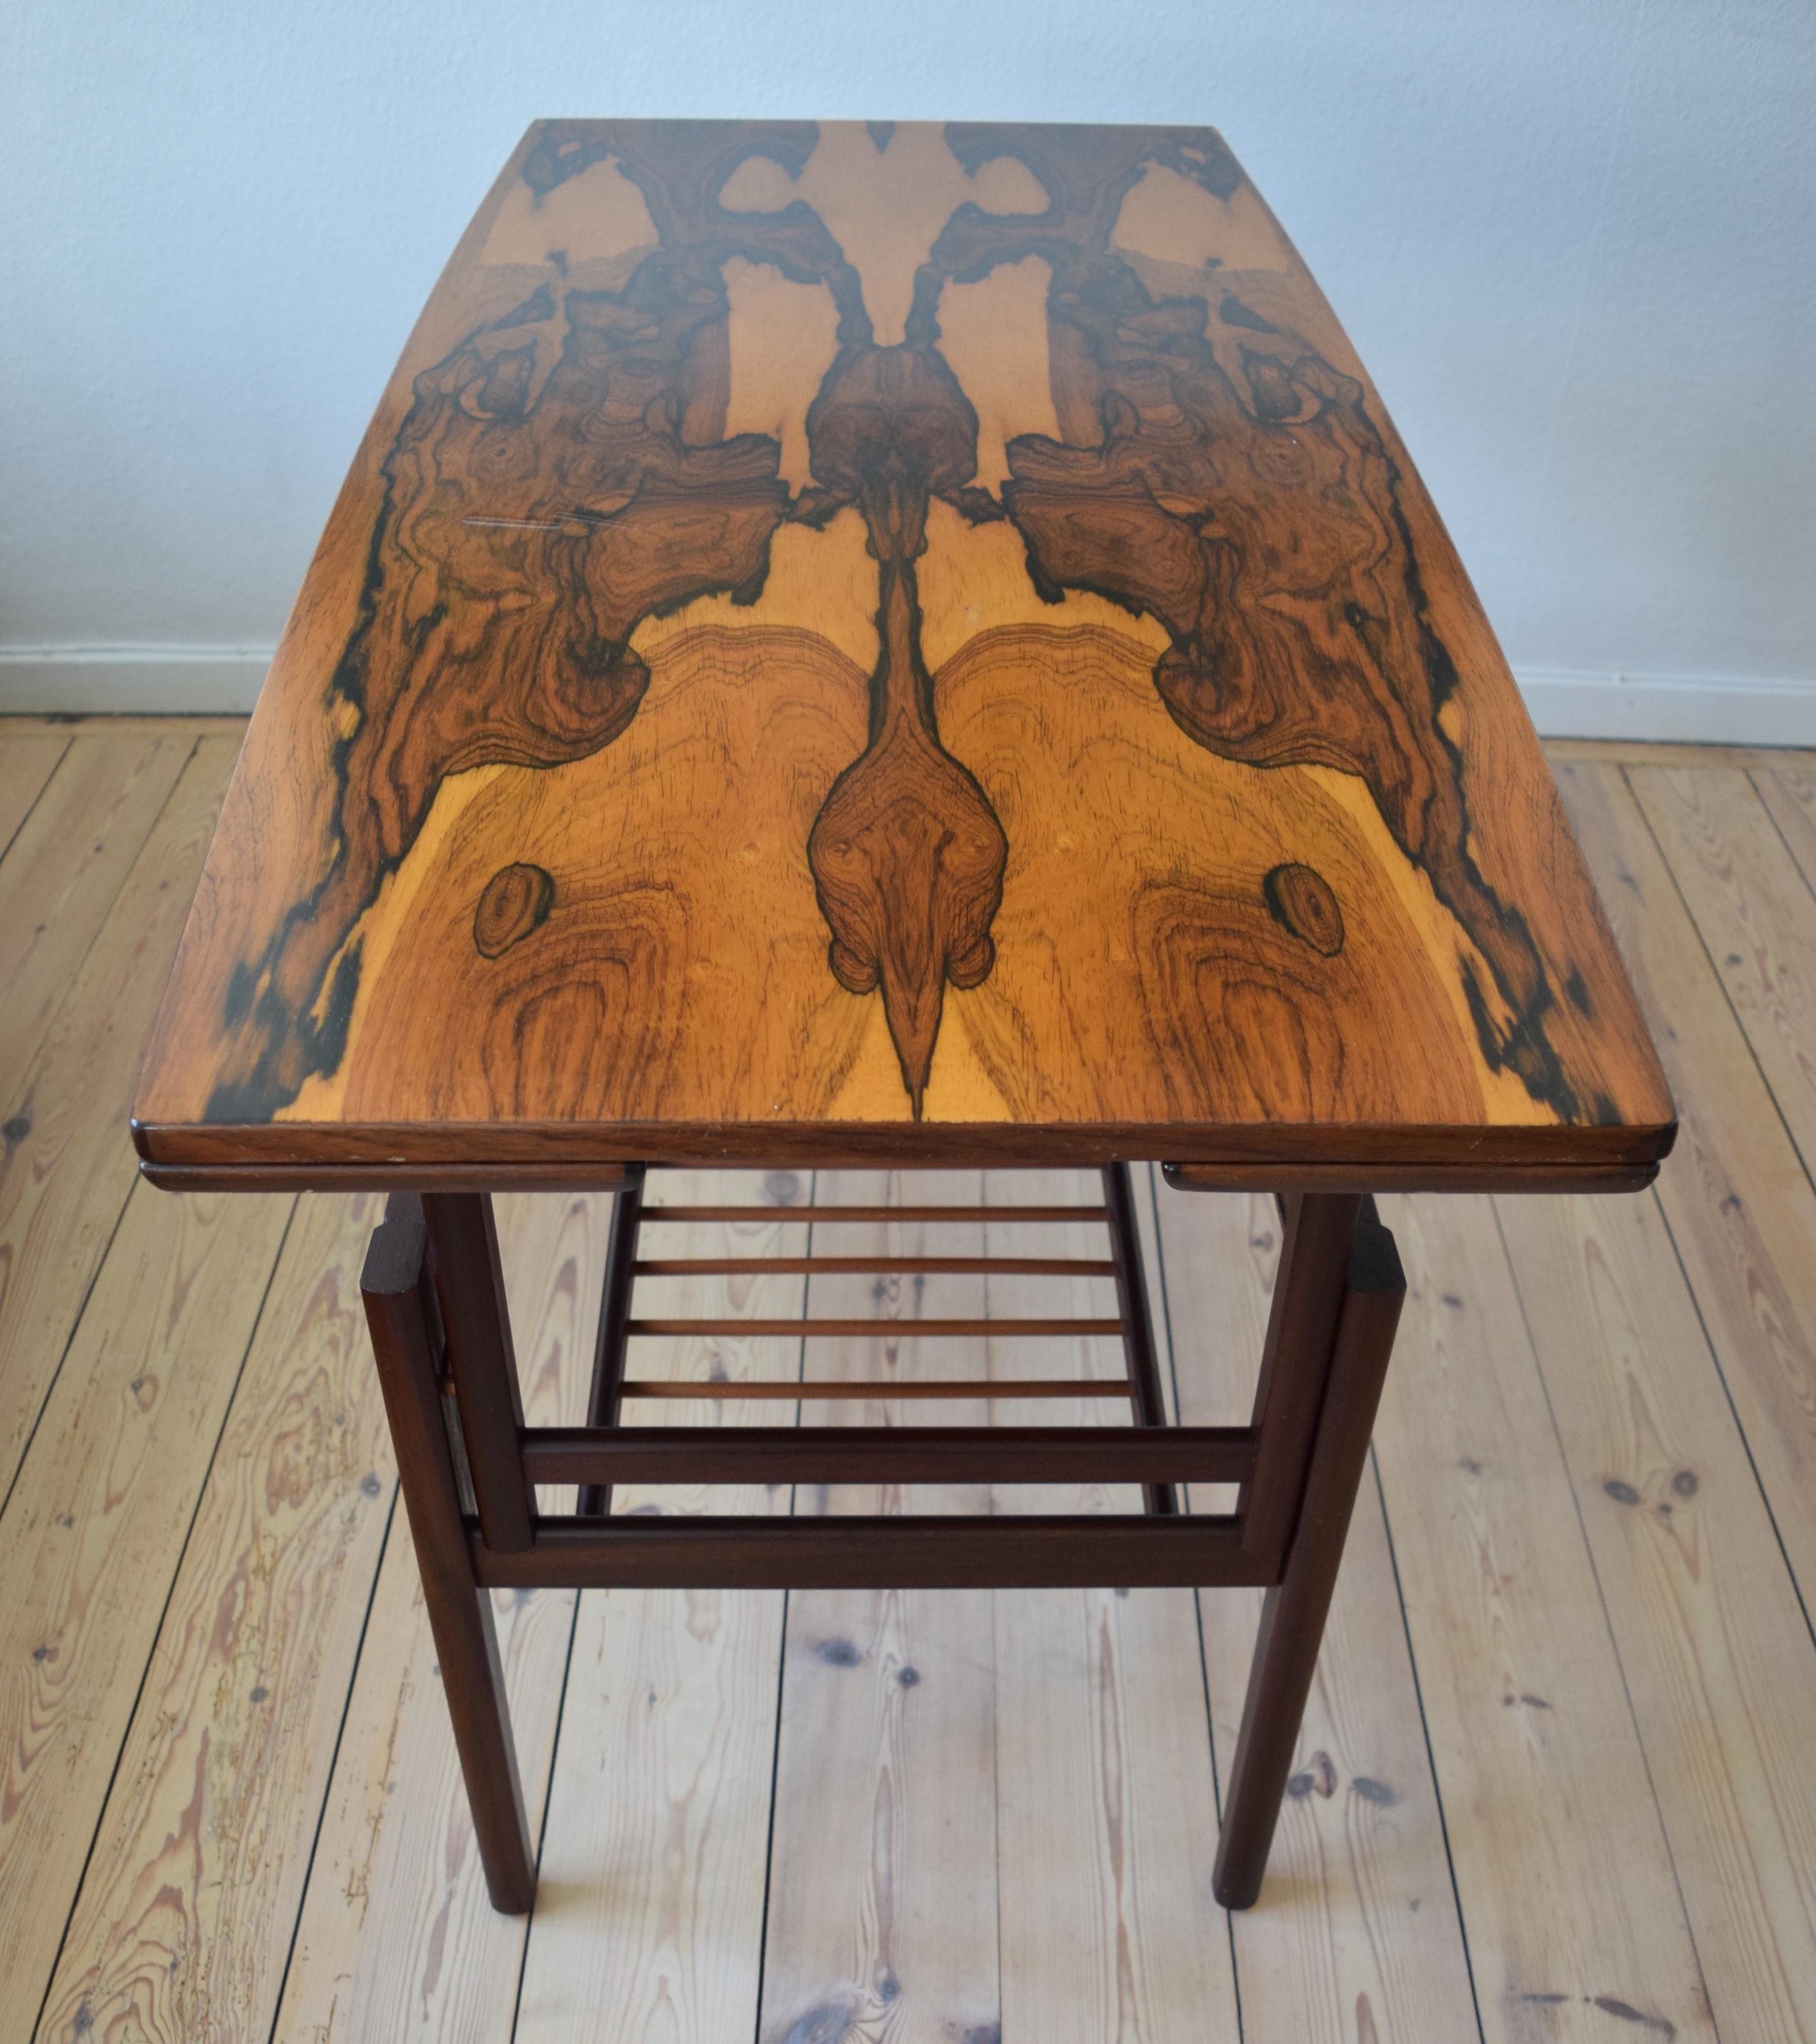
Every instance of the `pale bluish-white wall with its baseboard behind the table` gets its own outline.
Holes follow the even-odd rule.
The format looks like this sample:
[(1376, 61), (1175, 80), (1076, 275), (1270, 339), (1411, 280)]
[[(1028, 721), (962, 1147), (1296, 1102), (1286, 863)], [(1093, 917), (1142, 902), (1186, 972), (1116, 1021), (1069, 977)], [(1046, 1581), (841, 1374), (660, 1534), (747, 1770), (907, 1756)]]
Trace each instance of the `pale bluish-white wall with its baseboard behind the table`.
[(538, 114), (1213, 121), (1552, 730), (1816, 742), (1816, 0), (12, 0), (0, 707), (245, 701)]

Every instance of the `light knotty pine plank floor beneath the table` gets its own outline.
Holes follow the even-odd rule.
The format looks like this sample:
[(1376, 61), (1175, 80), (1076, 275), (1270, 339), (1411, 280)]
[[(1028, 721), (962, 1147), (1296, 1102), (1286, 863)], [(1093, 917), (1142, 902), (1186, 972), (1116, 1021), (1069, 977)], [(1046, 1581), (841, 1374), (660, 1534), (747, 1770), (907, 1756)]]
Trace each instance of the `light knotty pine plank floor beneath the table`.
[[(1552, 748), (1683, 1134), (1656, 1196), (1384, 1202), (1413, 1294), (1258, 1909), (1209, 1885), (1250, 1592), (544, 1592), (499, 1600), (542, 1842), (513, 1921), (395, 1508), (372, 1202), (133, 1177), (139, 1042), (235, 744), (0, 726), (0, 2036), (1816, 2040), (1812, 756)], [(982, 1198), (1035, 1186), (1074, 1190)], [(738, 1190), (783, 1210), (671, 1247), (804, 1249), (810, 1183)], [(1272, 1212), (1141, 1192), (1176, 1406), (1245, 1419)], [(530, 1406), (577, 1414), (605, 1202), (501, 1222)], [(986, 1241), (1020, 1247), (935, 1247)], [(1027, 1310), (1029, 1282), (1104, 1310), (1051, 1280), (816, 1282), (888, 1333), (669, 1367), (951, 1374), (916, 1314)], [(802, 1284), (689, 1306), (791, 1314)], [(1053, 1374), (1029, 1347), (959, 1367)]]

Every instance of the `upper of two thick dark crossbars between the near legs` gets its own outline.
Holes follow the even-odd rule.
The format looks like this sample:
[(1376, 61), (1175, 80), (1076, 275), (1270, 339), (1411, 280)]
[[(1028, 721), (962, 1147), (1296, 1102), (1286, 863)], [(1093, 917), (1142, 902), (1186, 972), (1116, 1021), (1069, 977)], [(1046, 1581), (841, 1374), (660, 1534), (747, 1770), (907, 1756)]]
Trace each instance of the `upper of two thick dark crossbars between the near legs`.
[(1245, 1484), (1252, 1427), (530, 1427), (532, 1484)]

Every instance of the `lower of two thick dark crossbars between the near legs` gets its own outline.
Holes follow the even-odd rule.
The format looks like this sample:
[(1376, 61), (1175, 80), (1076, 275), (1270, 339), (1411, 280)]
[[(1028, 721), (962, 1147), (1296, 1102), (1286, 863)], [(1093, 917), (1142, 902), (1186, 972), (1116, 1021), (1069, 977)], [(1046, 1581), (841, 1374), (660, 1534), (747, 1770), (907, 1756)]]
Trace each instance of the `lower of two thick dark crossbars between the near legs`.
[(1151, 1588), (1270, 1584), (1233, 1517), (538, 1519), (524, 1553), (466, 1529), (481, 1586), (691, 1590)]

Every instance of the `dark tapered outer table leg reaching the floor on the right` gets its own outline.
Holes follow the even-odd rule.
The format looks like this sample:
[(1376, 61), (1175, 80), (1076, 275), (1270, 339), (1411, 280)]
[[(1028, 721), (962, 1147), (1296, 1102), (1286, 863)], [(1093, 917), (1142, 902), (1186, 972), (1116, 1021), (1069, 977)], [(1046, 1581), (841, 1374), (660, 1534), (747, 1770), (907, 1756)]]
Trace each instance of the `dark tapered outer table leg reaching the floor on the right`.
[(1374, 1218), (1372, 1202), (1364, 1202), (1348, 1245), (1344, 1296), (1305, 1494), (1280, 1582), (1268, 1590), (1262, 1607), (1241, 1735), (1223, 1803), (1223, 1836), (1211, 1885), (1225, 1909), (1247, 1909), (1262, 1889), (1337, 1584), (1337, 1564), (1344, 1560), (1350, 1513), (1368, 1466), (1368, 1437), (1405, 1290), (1393, 1237)]

